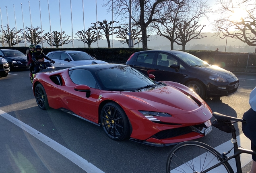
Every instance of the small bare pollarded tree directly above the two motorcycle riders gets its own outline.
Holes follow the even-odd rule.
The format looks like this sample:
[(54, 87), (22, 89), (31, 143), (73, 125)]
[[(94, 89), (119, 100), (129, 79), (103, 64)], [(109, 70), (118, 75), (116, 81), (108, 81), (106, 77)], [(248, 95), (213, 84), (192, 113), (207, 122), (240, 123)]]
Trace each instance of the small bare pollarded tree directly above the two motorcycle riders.
[[(35, 45), (43, 42), (43, 38), (41, 35), (44, 30), (41, 31), (41, 28), (39, 28), (38, 26), (36, 28), (34, 28), (33, 26), (32, 28), (25, 26), (25, 28), (25, 36), (27, 41)], [(24, 31), (21, 33), (24, 34)]]

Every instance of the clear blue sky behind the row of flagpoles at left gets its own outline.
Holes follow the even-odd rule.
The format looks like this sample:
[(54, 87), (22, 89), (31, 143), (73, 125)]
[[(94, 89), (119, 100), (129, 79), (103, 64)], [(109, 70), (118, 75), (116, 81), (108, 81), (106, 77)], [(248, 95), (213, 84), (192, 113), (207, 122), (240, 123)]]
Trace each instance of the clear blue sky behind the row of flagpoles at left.
[[(15, 18), (14, 18), (14, 9), (16, 16), (16, 23), (18, 29), (23, 29), (23, 19), (21, 11), (21, 3), (23, 8), (23, 17), (24, 17), (24, 26), (31, 27), (30, 22), (30, 13), (29, 13), (29, 4), (31, 10), (31, 19), (32, 26), (40, 27), (40, 12), (39, 12), (39, 0), (1, 0), (0, 8), (2, 13), (2, 24), (6, 26), (9, 20), (10, 28), (15, 27)], [(83, 30), (83, 1), (82, 0), (71, 0), (72, 4), (72, 22), (73, 22), (73, 36), (77, 30)], [(98, 21), (102, 20), (112, 20), (112, 13), (107, 14), (106, 7), (101, 5), (104, 3), (104, 0), (97, 0), (97, 16)], [(6, 6), (8, 12), (8, 20), (6, 14)], [(14, 7), (13, 7), (14, 6)], [(40, 0), (41, 6), (41, 20), (43, 33), (50, 32), (50, 22), (49, 22), (49, 13), (48, 13), (48, 3), (47, 0)], [(72, 35), (71, 27), (71, 12), (70, 12), (70, 0), (60, 0), (60, 9), (59, 9), (59, 0), (49, 0), (50, 7), (50, 21), (51, 21), (51, 30), (60, 32), (60, 13), (61, 13), (61, 25), (62, 31), (65, 31), (66, 34)], [(84, 14), (85, 14), (85, 30), (88, 27), (92, 26), (92, 22), (96, 22), (96, 3), (95, 0), (84, 0)], [(114, 18), (114, 20), (116, 20)], [(0, 21), (1, 22), (1, 21)], [(0, 28), (1, 29), (1, 28)], [(4, 30), (6, 28), (4, 27)]]

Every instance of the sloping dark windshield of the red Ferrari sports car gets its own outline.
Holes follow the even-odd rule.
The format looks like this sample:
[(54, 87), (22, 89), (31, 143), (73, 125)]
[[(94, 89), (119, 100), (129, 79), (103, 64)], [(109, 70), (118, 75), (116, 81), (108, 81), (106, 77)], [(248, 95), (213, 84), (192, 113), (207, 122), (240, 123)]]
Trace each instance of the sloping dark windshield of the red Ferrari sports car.
[(134, 91), (156, 83), (130, 66), (115, 66), (97, 71), (97, 77), (109, 91)]

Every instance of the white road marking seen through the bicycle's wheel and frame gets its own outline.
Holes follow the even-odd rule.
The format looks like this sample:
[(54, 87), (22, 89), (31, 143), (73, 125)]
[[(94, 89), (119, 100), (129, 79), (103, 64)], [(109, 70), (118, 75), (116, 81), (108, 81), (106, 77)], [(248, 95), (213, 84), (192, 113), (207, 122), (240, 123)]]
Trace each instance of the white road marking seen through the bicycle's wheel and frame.
[[(250, 141), (250, 139), (248, 139), (244, 134), (241, 134), (241, 135), (239, 135), (238, 137), (237, 137), (237, 144), (239, 145), (239, 146), (241, 146), (241, 147), (243, 147), (244, 149), (251, 149), (251, 141)], [(231, 141), (229, 140), (229, 141), (227, 141), (227, 142), (225, 142), (225, 143), (223, 143), (223, 144), (221, 144), (221, 145), (219, 145), (219, 146), (217, 146), (217, 147), (215, 147), (215, 149), (217, 150), (217, 151), (219, 151), (219, 153), (227, 153), (227, 151), (229, 151), (231, 148), (233, 147), (233, 143), (231, 143)], [(231, 156), (231, 155), (233, 155), (233, 150), (231, 150), (231, 152), (227, 155), (227, 157), (229, 157), (229, 156)], [(202, 155), (200, 155), (200, 156), (198, 156), (198, 157), (201, 157), (201, 158), (204, 158), (205, 156), (204, 156), (204, 154), (202, 154)], [(197, 157), (197, 158), (198, 158)], [(208, 158), (209, 159), (209, 158)], [(251, 155), (248, 155), (248, 154), (245, 154), (245, 153), (243, 153), (243, 154), (241, 154), (240, 155), (240, 159), (241, 159), (241, 166), (242, 167), (244, 167), (245, 165), (247, 165), (250, 161), (252, 161), (252, 157), (251, 157)], [(211, 159), (210, 159), (211, 160)], [(231, 159), (231, 160), (229, 160), (228, 161), (229, 162), (229, 164), (230, 164), (230, 166), (232, 167), (232, 169), (233, 169), (233, 171), (234, 172), (237, 172), (237, 170), (236, 170), (236, 165), (235, 165), (235, 159)], [(184, 165), (185, 164), (188, 164), (188, 163), (193, 163), (194, 165), (198, 165), (198, 166), (200, 166), (200, 163), (198, 162), (196, 162), (196, 158), (192, 161), (192, 160), (190, 160), (190, 161), (188, 161), (187, 163), (184, 163)], [(216, 163), (213, 163), (213, 164), (217, 164), (218, 162), (216, 162)], [(178, 170), (178, 167), (177, 168), (175, 168), (176, 170)], [(176, 171), (175, 169), (173, 169), (172, 171), (171, 171), (171, 173), (173, 172), (173, 173), (175, 173), (175, 172), (180, 172), (180, 171)], [(218, 170), (218, 171), (220, 171), (220, 170)], [(210, 172), (213, 172), (213, 173), (215, 173), (216, 172), (216, 170), (214, 171), (214, 170), (212, 170), (212, 171), (210, 171)], [(223, 171), (223, 172), (225, 172), (225, 171)]]

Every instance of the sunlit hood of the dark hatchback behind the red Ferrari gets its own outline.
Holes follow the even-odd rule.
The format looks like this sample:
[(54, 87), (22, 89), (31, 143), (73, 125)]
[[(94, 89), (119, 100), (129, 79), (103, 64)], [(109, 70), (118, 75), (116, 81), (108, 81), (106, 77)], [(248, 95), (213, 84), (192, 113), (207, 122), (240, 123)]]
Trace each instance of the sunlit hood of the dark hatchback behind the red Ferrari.
[(203, 66), (203, 67), (194, 67), (194, 68), (198, 68), (203, 73), (208, 73), (209, 75), (219, 74), (220, 76), (224, 77), (225, 79), (236, 77), (235, 74), (233, 74), (232, 72), (225, 70), (221, 67), (214, 66), (214, 65)]

